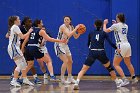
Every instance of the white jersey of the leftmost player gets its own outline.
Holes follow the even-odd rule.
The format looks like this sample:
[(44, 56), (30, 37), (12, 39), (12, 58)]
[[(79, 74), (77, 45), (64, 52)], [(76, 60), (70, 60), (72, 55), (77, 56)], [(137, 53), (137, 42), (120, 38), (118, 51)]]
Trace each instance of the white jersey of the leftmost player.
[(9, 45), (20, 46), (19, 33), (22, 33), (20, 28), (17, 25), (13, 25), (10, 30)]

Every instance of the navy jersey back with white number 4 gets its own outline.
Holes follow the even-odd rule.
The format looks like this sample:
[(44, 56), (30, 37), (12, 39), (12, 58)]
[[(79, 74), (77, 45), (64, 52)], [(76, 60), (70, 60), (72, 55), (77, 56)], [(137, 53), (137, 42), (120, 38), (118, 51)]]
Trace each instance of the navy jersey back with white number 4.
[(89, 34), (89, 48), (90, 49), (104, 49), (104, 41), (106, 33), (102, 30), (92, 31)]

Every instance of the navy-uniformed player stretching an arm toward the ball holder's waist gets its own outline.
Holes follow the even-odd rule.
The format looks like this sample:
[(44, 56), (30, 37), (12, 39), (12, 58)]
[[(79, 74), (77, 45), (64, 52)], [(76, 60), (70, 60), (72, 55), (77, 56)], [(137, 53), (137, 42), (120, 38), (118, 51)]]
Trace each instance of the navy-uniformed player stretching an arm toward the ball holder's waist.
[[(42, 27), (43, 27), (42, 20), (36, 19), (34, 21), (33, 32), (30, 34), (28, 45), (27, 45), (27, 53), (30, 55), (27, 57), (27, 61), (29, 63), (27, 66), (27, 71), (29, 71), (30, 68), (33, 66), (34, 58), (36, 58), (39, 62), (44, 61), (47, 63), (50, 75), (53, 79), (55, 79), (55, 76), (53, 74), (52, 62), (50, 61), (49, 56), (44, 53), (44, 50), (43, 52), (40, 51), (40, 44), (42, 43), (43, 38), (50, 42), (61, 42), (61, 43), (65, 43), (66, 40), (51, 38), (46, 34), (46, 31), (42, 29)], [(25, 41), (27, 40), (28, 38), (25, 39)], [(23, 44), (25, 45), (26, 42)]]

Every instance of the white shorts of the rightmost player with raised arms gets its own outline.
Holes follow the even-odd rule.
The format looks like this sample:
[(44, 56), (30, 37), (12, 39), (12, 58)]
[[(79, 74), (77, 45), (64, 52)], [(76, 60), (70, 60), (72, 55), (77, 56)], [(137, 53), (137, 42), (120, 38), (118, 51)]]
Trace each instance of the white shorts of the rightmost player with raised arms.
[(119, 43), (117, 44), (118, 48), (121, 50), (121, 53), (119, 54), (118, 52), (115, 51), (116, 56), (121, 56), (121, 57), (130, 57), (131, 56), (131, 45), (127, 43)]

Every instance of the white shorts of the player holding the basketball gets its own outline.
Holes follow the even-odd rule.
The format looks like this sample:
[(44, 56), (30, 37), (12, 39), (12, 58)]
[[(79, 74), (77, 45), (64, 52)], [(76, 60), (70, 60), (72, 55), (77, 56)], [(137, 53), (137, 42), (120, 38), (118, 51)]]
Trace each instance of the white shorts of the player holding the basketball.
[(54, 49), (57, 56), (59, 56), (60, 54), (66, 54), (67, 56), (71, 56), (69, 46), (66, 44), (55, 43)]

